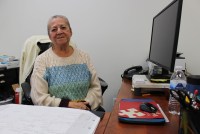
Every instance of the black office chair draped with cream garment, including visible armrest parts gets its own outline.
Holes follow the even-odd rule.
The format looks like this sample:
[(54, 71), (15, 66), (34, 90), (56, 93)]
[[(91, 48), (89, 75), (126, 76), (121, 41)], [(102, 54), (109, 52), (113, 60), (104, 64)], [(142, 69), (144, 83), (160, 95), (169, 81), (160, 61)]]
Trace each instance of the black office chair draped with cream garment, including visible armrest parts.
[[(32, 61), (34, 61), (38, 55), (46, 51), (49, 47), (51, 47), (51, 42), (48, 39), (48, 36), (32, 36), (24, 44), (24, 50), (27, 50), (27, 49), (33, 49), (33, 50), (29, 50), (28, 55), (26, 55), (25, 52), (23, 51), (21, 60), (20, 60), (20, 84), (21, 84), (22, 91), (24, 93), (22, 97), (23, 104), (34, 105), (30, 96), (30, 92), (31, 92), (30, 78), (33, 71), (34, 62), (28, 63), (29, 66), (26, 65), (26, 59), (24, 58), (24, 55), (26, 55), (26, 58), (27, 56), (31, 56), (31, 58), (33, 58)], [(33, 51), (36, 51), (36, 54), (34, 53), (34, 55), (32, 56), (30, 52), (33, 52)], [(28, 69), (25, 69), (25, 67), (27, 66), (28, 66)], [(102, 78), (100, 77), (98, 78), (100, 81), (102, 95), (103, 95), (105, 90), (108, 88), (108, 84)], [(98, 111), (105, 112), (104, 108), (101, 106), (98, 108)]]

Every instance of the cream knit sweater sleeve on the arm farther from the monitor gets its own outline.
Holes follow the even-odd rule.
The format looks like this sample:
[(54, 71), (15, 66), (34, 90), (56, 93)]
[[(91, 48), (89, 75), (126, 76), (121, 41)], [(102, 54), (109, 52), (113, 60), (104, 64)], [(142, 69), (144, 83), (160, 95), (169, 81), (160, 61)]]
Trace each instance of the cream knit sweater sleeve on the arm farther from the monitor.
[(59, 106), (61, 99), (50, 96), (48, 92), (48, 83), (43, 78), (45, 70), (45, 58), (38, 56), (31, 76), (31, 99), (35, 105)]

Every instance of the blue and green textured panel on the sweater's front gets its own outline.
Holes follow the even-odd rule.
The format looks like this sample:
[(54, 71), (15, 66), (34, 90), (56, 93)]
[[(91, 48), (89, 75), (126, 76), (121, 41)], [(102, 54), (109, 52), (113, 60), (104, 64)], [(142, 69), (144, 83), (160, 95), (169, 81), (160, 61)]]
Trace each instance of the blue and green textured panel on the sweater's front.
[(90, 86), (91, 74), (86, 64), (72, 64), (47, 68), (44, 79), (52, 96), (84, 100)]

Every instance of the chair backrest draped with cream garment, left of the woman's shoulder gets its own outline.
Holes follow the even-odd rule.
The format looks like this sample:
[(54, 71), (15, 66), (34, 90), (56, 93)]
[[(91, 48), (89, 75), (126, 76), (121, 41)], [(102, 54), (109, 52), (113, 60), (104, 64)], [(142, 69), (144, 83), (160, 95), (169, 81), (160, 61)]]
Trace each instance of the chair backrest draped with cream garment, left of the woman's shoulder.
[(30, 97), (30, 78), (33, 71), (35, 58), (51, 46), (47, 35), (34, 35), (25, 41), (20, 59), (20, 86), (24, 92), (22, 103), (33, 105)]

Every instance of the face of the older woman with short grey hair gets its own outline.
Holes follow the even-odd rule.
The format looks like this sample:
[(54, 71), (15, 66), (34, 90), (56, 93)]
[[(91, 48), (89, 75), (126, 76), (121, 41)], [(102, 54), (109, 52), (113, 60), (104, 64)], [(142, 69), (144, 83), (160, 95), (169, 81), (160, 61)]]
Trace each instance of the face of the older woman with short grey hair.
[(49, 38), (54, 45), (67, 45), (71, 36), (71, 28), (65, 19), (54, 18), (49, 22)]

